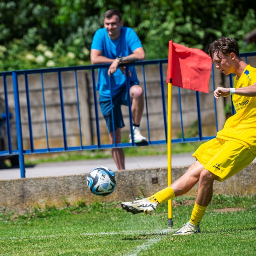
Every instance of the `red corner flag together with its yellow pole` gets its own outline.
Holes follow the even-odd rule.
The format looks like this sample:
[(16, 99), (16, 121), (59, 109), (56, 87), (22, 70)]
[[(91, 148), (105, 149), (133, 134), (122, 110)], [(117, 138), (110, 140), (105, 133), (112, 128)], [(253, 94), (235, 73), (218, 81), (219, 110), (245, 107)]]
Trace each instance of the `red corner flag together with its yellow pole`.
[[(172, 85), (209, 93), (212, 58), (200, 49), (169, 41), (167, 81), (167, 185), (172, 184)], [(168, 228), (172, 229), (172, 200), (168, 200)]]

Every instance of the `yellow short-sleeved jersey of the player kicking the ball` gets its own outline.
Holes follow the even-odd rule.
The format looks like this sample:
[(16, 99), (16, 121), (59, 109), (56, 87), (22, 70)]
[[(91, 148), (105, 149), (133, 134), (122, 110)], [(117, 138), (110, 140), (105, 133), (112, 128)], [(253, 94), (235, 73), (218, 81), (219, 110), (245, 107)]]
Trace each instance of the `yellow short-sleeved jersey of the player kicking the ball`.
[[(243, 74), (234, 77), (234, 88), (250, 86), (256, 83), (256, 68), (247, 65)], [(256, 97), (232, 95), (236, 114), (229, 117), (216, 138), (241, 143), (256, 154)]]

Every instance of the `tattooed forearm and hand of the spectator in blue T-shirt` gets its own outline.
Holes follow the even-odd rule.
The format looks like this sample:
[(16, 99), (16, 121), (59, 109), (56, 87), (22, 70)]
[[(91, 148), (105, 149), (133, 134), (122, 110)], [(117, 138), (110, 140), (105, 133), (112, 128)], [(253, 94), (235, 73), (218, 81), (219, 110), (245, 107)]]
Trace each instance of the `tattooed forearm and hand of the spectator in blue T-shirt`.
[[(132, 54), (130, 54), (128, 56), (124, 56), (122, 58), (122, 63), (130, 63), (130, 62), (137, 61), (137, 60), (145, 60), (145, 52), (142, 47), (135, 49), (132, 52)], [(110, 74), (113, 74), (116, 72), (116, 69), (119, 64), (120, 64), (120, 60), (118, 60), (118, 59), (115, 59), (112, 62), (112, 64), (110, 65), (110, 67), (108, 69), (108, 76), (110, 76)], [(125, 67), (120, 67), (120, 69), (122, 70), (122, 73), (124, 74)]]

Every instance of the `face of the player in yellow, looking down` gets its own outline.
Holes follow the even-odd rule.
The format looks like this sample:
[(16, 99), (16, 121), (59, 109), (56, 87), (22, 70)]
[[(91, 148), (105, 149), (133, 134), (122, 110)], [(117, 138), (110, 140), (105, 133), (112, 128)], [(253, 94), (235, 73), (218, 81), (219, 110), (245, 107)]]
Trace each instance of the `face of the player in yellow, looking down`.
[(230, 53), (228, 55), (224, 55), (222, 52), (219, 52), (219, 57), (217, 53), (214, 52), (212, 61), (215, 64), (215, 67), (220, 69), (220, 71), (228, 76), (229, 74), (233, 73), (233, 58), (234, 53)]

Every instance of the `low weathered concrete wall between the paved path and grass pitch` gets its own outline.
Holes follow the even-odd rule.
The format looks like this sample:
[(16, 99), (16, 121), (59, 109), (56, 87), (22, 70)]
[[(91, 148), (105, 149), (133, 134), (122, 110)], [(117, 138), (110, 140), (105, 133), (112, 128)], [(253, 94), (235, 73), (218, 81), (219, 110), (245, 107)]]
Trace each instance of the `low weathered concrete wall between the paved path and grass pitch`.
[[(188, 166), (172, 168), (172, 182), (186, 172)], [(256, 162), (252, 162), (244, 170), (230, 179), (220, 183), (214, 182), (214, 194), (256, 194)], [(87, 188), (87, 174), (26, 178), (0, 181), (0, 208), (7, 210), (24, 210), (28, 207), (45, 204), (57, 207), (64, 206), (63, 197), (70, 204), (84, 199), (85, 203), (93, 201), (127, 202), (137, 196), (151, 196), (167, 186), (166, 168), (149, 168), (116, 171), (117, 187), (109, 196), (94, 196)], [(153, 184), (152, 178), (158, 183)], [(196, 196), (197, 185), (184, 196)]]

